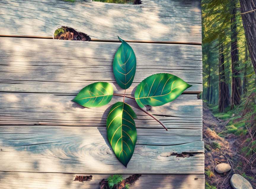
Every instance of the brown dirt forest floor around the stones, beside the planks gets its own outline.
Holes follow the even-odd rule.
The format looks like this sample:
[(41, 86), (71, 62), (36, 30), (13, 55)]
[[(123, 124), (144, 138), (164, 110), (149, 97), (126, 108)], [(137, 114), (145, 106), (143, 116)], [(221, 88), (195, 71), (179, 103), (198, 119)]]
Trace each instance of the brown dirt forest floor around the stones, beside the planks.
[[(230, 178), (233, 174), (241, 174), (244, 170), (237, 169), (241, 166), (239, 151), (244, 138), (228, 133), (223, 136), (226, 126), (230, 122), (216, 118), (206, 103), (203, 103), (203, 141), (205, 147), (205, 179), (206, 189), (232, 189)], [(220, 135), (220, 136), (219, 136)], [(232, 169), (225, 173), (217, 173), (215, 166), (220, 163), (228, 163)], [(249, 182), (255, 187), (255, 175), (243, 175), (250, 177)], [(247, 179), (248, 180), (248, 179)]]

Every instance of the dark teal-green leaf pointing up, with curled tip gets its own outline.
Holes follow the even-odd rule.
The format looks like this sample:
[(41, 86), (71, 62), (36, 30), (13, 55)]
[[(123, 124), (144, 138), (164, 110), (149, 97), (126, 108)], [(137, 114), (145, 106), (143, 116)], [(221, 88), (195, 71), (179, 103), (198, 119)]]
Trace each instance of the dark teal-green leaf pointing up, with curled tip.
[[(119, 37), (118, 37), (119, 38)], [(122, 89), (128, 89), (135, 76), (136, 57), (128, 43), (119, 38), (122, 42), (113, 61), (113, 71), (117, 84)]]

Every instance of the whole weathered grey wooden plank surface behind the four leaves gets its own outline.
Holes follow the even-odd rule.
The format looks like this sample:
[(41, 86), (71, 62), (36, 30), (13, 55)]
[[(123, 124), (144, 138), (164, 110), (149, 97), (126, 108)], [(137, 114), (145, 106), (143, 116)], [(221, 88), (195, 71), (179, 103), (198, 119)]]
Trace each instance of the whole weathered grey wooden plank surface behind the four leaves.
[[(134, 83), (170, 73), (202, 91), (200, 0), (149, 0), (141, 5), (93, 1), (6, 0), (0, 2), (0, 35), (52, 37), (60, 26), (85, 32), (94, 40), (151, 41), (129, 43), (137, 58)], [(156, 44), (155, 42), (182, 44)], [(149, 112), (138, 110), (138, 139), (125, 168), (115, 157), (106, 134), (106, 118), (114, 96), (100, 108), (84, 108), (71, 100), (86, 85), (110, 82), (113, 57), (121, 43), (0, 37), (0, 188), (98, 188), (109, 174), (142, 173), (131, 189), (204, 188), (202, 101), (182, 94)], [(174, 153), (190, 153), (176, 157)], [(79, 173), (78, 173), (79, 172)], [(90, 174), (84, 174), (90, 173)], [(177, 174), (178, 173), (178, 174)], [(90, 182), (73, 181), (93, 175)]]

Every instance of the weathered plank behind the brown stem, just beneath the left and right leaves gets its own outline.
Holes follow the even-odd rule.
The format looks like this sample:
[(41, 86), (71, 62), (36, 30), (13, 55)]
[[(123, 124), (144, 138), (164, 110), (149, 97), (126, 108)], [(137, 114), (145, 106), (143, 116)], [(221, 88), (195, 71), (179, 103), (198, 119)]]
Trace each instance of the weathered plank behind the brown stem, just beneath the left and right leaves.
[[(71, 101), (70, 94), (50, 93), (0, 93), (1, 125), (65, 125), (105, 126), (109, 109), (123, 98), (113, 96), (108, 105), (84, 108)], [(125, 98), (137, 115), (138, 128), (162, 128), (140, 109), (135, 100)], [(167, 128), (202, 128), (202, 101), (196, 94), (182, 94), (171, 103), (148, 110)]]

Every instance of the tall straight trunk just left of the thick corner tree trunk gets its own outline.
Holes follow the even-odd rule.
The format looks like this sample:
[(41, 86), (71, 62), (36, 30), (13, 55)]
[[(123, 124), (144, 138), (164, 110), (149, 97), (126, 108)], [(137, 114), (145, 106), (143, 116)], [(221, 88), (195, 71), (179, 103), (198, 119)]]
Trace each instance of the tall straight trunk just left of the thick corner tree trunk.
[(232, 12), (231, 12), (231, 71), (232, 71), (232, 85), (231, 85), (231, 108), (234, 105), (240, 104), (241, 100), (241, 79), (239, 77), (239, 59), (237, 48), (237, 32), (236, 32), (236, 4), (235, 0), (232, 0)]

